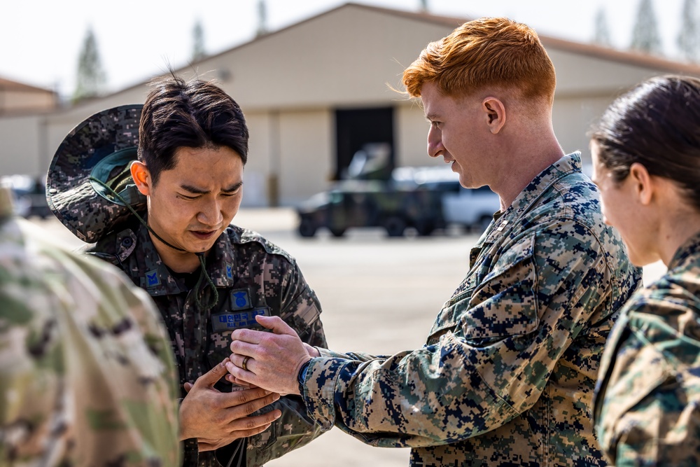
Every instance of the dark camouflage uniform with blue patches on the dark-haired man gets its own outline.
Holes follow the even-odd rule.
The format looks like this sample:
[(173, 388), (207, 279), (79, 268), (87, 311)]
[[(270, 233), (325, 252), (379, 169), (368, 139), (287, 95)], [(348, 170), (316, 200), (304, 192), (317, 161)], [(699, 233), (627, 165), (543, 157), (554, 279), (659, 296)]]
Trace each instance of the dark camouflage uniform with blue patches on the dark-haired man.
[[(155, 300), (170, 333), (181, 386), (195, 382), (230, 356), (232, 330), (262, 329), (255, 314), (280, 316), (307, 344), (327, 347), (321, 305), (295, 260), (255, 232), (230, 226), (209, 252), (207, 272), (218, 290), (218, 303), (211, 312), (197, 307), (195, 293), (173, 277), (160, 260), (148, 230), (135, 221), (85, 251), (118, 265)], [(210, 293), (209, 288), (204, 289), (202, 303), (208, 302)], [(216, 389), (230, 391), (231, 385), (222, 380)], [(183, 390), (181, 397), (185, 395)], [(321, 434), (300, 397), (282, 397), (262, 411), (275, 408), (282, 411), (281, 417), (266, 431), (248, 438), (248, 466), (260, 466)], [(184, 455), (184, 466), (221, 465), (214, 452), (198, 455), (194, 439), (186, 441)]]

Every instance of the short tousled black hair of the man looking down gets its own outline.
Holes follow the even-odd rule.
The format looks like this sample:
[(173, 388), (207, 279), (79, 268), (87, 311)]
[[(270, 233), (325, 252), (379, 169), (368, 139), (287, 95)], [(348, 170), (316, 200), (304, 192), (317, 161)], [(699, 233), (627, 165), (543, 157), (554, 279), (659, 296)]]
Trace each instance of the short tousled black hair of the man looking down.
[(178, 76), (155, 81), (139, 126), (139, 160), (158, 183), (179, 148), (225, 146), (248, 159), (248, 127), (238, 104), (217, 85)]

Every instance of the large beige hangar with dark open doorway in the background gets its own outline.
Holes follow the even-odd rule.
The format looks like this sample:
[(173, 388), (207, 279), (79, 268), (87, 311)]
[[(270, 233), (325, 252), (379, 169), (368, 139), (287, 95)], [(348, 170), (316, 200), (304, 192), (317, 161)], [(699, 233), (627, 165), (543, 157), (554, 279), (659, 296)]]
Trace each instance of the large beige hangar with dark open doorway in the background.
[[(244, 205), (293, 205), (328, 187), (363, 144), (391, 144), (395, 166), (431, 165), (428, 124), (392, 90), (430, 41), (468, 18), (345, 4), (207, 57), (183, 76), (215, 78), (251, 131)], [(554, 130), (563, 149), (589, 157), (586, 132), (619, 94), (666, 73), (700, 67), (540, 36), (557, 74)], [(71, 128), (90, 114), (144, 102), (148, 83), (49, 115), (2, 116), (0, 175), (41, 174)]]

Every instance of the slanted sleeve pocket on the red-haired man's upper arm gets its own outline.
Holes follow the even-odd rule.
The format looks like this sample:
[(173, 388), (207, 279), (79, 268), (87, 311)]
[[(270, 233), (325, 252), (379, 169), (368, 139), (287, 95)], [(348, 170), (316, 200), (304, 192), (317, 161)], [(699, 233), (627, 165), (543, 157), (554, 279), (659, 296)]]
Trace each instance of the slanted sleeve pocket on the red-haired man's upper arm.
[(536, 330), (539, 313), (534, 241), (534, 235), (528, 235), (510, 246), (493, 260), (483, 279), (446, 302), (430, 339), (437, 340), (452, 330), (473, 347), (484, 347)]

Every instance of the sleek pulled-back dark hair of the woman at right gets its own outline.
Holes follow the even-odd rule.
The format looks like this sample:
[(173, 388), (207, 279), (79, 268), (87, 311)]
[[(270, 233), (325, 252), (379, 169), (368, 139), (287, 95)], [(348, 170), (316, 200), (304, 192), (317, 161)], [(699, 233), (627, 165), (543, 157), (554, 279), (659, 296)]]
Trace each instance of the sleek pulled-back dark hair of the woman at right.
[(700, 79), (657, 76), (615, 99), (590, 132), (616, 182), (638, 162), (700, 209)]

